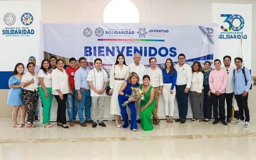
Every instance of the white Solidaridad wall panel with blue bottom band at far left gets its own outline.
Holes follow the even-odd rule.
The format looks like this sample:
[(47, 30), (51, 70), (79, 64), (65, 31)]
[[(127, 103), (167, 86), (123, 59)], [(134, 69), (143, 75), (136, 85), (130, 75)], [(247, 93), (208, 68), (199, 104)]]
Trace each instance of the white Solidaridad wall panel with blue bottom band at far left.
[(33, 55), (41, 65), (40, 21), (40, 1), (0, 1), (0, 89), (9, 89), (8, 80), (17, 63), (26, 67)]

